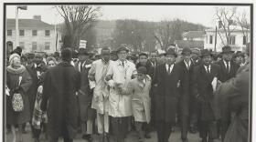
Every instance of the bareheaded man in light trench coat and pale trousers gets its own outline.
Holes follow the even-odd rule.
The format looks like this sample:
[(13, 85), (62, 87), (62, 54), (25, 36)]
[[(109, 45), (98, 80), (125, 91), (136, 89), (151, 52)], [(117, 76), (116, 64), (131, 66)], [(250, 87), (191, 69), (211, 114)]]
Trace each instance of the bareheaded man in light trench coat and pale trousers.
[[(105, 138), (105, 142), (109, 141), (109, 87), (104, 81), (107, 70), (110, 66), (110, 49), (104, 47), (101, 49), (101, 59), (92, 63), (89, 71), (89, 79), (95, 82), (93, 90), (91, 108), (97, 111), (98, 133), (101, 135), (101, 141)], [(104, 133), (103, 133), (104, 131)], [(105, 135), (103, 135), (105, 134)]]

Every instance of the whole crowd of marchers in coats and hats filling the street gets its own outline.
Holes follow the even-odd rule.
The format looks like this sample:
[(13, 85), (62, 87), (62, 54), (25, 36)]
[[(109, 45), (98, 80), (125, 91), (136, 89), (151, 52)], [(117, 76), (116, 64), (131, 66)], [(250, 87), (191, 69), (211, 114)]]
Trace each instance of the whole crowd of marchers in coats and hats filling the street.
[(26, 123), (35, 142), (42, 132), (49, 142), (78, 133), (124, 142), (130, 131), (141, 142), (152, 131), (167, 142), (175, 127), (183, 142), (188, 132), (202, 142), (247, 142), (249, 80), (250, 46), (213, 55), (187, 47), (131, 54), (122, 45), (95, 56), (85, 48), (23, 55), (17, 47), (6, 60), (6, 129), (13, 142), (23, 141)]

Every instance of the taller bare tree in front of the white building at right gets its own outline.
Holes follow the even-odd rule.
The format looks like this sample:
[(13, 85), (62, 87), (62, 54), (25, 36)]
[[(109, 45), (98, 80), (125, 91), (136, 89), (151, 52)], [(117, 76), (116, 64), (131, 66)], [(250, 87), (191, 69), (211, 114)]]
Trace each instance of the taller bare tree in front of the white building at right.
[[(229, 45), (230, 35), (236, 29), (235, 26), (231, 25), (234, 24), (233, 20), (237, 14), (237, 7), (217, 7), (215, 9), (215, 12), (215, 16), (219, 21), (220, 28), (222, 28), (225, 33), (225, 37), (222, 37), (221, 33), (218, 31), (221, 42), (224, 46)], [(226, 40), (224, 40), (223, 38), (226, 38)]]

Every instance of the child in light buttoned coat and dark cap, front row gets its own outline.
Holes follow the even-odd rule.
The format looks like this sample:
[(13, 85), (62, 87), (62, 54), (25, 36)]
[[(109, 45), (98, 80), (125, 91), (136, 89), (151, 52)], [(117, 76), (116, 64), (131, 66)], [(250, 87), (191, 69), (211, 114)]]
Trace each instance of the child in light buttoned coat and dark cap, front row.
[(149, 91), (151, 89), (151, 78), (146, 75), (147, 69), (140, 66), (137, 69), (137, 77), (132, 79), (127, 88), (123, 89), (123, 95), (132, 95), (132, 111), (135, 127), (139, 135), (139, 141), (144, 141), (143, 126), (150, 122), (151, 100)]

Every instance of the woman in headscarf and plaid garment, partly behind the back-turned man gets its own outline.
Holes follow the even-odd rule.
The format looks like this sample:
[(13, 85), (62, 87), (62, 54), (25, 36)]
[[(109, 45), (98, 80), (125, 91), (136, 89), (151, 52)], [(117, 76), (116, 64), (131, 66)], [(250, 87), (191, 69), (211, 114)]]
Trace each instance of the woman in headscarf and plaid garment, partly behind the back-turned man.
[[(53, 66), (57, 65), (57, 61), (54, 57), (48, 56), (47, 58), (47, 68), (51, 68)], [(44, 67), (45, 68), (45, 67)], [(35, 127), (36, 129), (36, 135), (35, 135), (35, 142), (39, 141), (39, 137), (41, 134), (42, 128), (46, 132), (47, 130), (47, 113), (43, 112), (40, 108), (41, 102), (42, 102), (42, 92), (43, 92), (43, 83), (44, 83), (44, 78), (45, 78), (45, 73), (47, 70), (44, 70), (41, 75), (39, 76), (39, 81), (38, 81), (38, 88), (37, 88), (37, 96), (36, 96), (36, 103), (35, 103), (35, 108), (33, 111), (33, 117), (32, 117), (32, 126)], [(46, 135), (46, 139), (48, 139)]]

